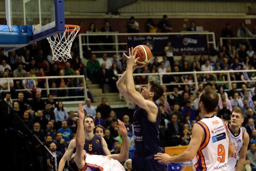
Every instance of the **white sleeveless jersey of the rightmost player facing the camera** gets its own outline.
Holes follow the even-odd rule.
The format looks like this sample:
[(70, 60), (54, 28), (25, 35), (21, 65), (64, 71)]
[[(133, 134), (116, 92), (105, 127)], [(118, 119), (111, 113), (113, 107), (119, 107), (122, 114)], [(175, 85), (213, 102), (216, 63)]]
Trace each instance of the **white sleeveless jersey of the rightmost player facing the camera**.
[(227, 171), (235, 171), (236, 170), (235, 166), (236, 166), (237, 160), (239, 159), (239, 152), (241, 147), (243, 146), (244, 130), (242, 128), (239, 128), (238, 135), (234, 135), (230, 130), (229, 125), (230, 124), (228, 124), (228, 132), (229, 132), (232, 145), (234, 146), (234, 154), (228, 158)]

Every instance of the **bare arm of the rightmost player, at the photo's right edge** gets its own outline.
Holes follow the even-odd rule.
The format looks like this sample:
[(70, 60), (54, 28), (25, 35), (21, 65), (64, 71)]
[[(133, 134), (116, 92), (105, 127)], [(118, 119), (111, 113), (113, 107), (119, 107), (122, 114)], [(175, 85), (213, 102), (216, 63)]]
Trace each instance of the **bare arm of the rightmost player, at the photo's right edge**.
[(236, 171), (242, 170), (242, 167), (246, 161), (246, 152), (247, 152), (248, 144), (249, 144), (249, 135), (246, 131), (244, 131), (243, 146), (240, 149), (240, 154), (239, 154), (239, 159), (237, 161)]

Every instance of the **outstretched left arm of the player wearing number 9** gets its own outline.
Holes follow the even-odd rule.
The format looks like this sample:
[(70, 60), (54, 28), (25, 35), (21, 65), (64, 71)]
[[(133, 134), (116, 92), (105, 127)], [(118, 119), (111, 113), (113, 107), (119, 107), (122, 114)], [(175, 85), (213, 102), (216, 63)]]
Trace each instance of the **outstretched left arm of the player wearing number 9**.
[(157, 153), (155, 155), (155, 160), (158, 160), (159, 163), (160, 162), (182, 163), (182, 162), (187, 162), (192, 160), (196, 156), (196, 153), (202, 143), (203, 135), (204, 135), (203, 128), (198, 124), (194, 124), (192, 129), (192, 138), (189, 142), (189, 145), (186, 151), (184, 151), (180, 155), (173, 156), (173, 157), (169, 156), (166, 153), (165, 154)]

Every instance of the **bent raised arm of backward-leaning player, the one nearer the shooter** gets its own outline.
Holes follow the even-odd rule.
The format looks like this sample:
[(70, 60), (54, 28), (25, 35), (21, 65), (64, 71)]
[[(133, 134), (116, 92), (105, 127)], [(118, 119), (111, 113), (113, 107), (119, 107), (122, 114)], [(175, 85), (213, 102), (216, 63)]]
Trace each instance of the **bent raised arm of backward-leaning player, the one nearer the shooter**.
[(118, 119), (119, 132), (122, 135), (122, 148), (119, 154), (111, 154), (107, 157), (118, 160), (119, 162), (125, 161), (129, 157), (129, 140), (127, 136), (127, 129), (122, 121)]

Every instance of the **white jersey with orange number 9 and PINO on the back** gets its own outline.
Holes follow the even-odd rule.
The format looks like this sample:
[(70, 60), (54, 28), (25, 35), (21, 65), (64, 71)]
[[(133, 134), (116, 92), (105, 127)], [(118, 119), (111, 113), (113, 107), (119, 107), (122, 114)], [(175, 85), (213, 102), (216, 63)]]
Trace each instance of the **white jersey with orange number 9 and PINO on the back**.
[(196, 124), (204, 129), (204, 140), (192, 160), (193, 169), (198, 171), (227, 170), (229, 133), (226, 123), (213, 115), (204, 117)]

